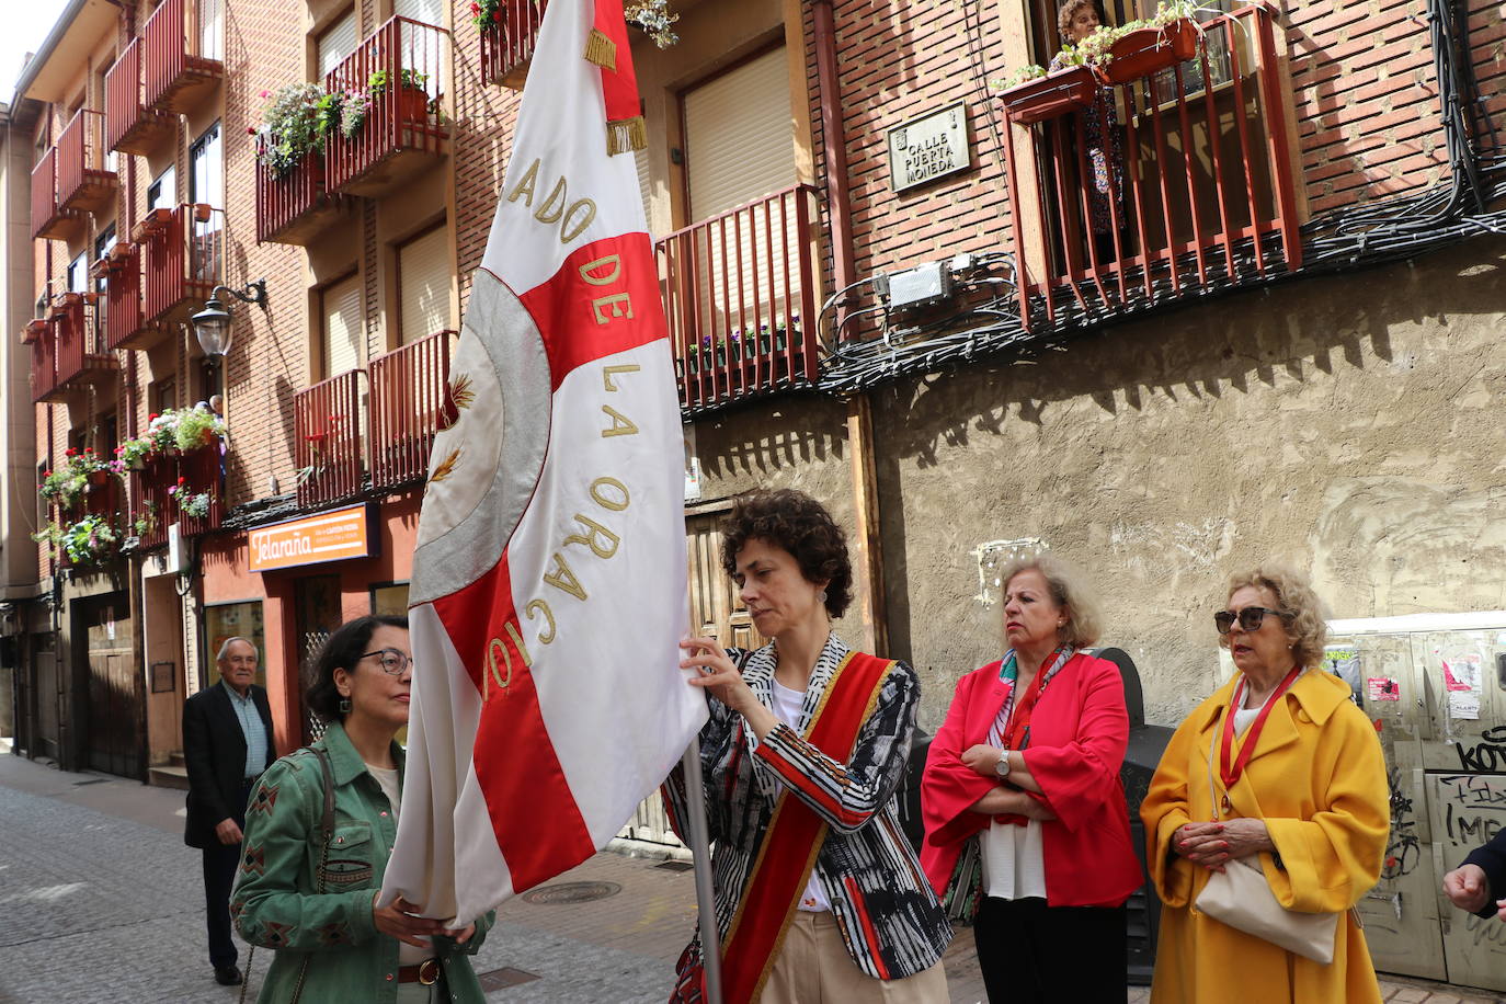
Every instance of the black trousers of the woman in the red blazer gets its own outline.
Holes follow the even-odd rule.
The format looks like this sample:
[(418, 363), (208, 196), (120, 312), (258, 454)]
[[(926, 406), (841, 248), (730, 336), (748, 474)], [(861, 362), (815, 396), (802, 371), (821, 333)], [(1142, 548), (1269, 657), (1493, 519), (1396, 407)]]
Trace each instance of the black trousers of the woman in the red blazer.
[(989, 1002), (1123, 1004), (1125, 917), (1123, 906), (983, 897), (973, 938)]

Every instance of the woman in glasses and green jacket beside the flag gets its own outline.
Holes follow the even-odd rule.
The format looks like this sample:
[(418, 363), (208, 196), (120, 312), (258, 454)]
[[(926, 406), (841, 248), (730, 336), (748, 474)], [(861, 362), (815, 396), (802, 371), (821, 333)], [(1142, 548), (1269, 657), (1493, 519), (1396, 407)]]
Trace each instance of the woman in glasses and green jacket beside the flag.
[(313, 677), (306, 701), (324, 738), (262, 775), (230, 896), (241, 936), (277, 950), (258, 1001), (482, 1001), (470, 956), (494, 914), (446, 930), (422, 905), (375, 905), (398, 832), (407, 619), (342, 625)]

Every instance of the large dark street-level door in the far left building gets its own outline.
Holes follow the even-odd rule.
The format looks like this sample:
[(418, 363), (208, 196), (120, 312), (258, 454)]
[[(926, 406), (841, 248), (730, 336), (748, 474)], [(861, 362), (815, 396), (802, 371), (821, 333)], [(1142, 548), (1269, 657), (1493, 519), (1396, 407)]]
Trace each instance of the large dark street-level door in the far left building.
[(133, 671), (131, 605), (125, 593), (78, 604), (78, 631), (86, 679), (84, 763), (92, 771), (140, 777), (137, 723), (142, 692)]

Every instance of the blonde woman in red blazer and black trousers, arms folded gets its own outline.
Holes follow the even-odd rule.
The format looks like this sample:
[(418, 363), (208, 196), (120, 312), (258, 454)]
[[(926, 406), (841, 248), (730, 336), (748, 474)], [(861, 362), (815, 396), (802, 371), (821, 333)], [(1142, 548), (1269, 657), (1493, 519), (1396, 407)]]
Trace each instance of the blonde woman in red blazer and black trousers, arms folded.
[(1003, 659), (964, 676), (920, 783), (920, 864), (973, 918), (988, 999), (1123, 1001), (1125, 908), (1143, 876), (1119, 768), (1119, 668), (1098, 616), (1042, 554), (1005, 570)]

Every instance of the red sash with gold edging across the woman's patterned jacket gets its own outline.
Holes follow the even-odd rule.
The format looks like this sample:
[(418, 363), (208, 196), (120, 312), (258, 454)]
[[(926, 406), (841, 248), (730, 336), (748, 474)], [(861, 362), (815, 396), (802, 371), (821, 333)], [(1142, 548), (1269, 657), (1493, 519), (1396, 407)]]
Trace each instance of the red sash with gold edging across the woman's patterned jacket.
[[(852, 756), (858, 730), (878, 704), (880, 688), (892, 665), (889, 659), (849, 652), (810, 716), (806, 742), (845, 763)], [(742, 902), (721, 942), (726, 1004), (748, 1004), (764, 992), (825, 838), (827, 822), (788, 789), (780, 792), (764, 844), (742, 887)]]

